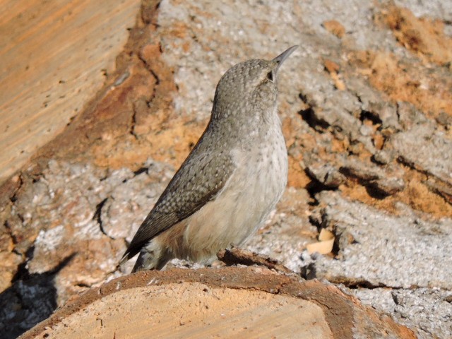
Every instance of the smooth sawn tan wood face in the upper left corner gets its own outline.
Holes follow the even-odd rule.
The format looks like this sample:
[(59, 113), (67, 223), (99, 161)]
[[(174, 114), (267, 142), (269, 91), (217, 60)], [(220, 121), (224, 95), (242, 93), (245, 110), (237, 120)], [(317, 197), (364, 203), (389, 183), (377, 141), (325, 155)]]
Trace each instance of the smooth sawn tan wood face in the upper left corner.
[(102, 87), (139, 6), (139, 0), (0, 1), (0, 183)]

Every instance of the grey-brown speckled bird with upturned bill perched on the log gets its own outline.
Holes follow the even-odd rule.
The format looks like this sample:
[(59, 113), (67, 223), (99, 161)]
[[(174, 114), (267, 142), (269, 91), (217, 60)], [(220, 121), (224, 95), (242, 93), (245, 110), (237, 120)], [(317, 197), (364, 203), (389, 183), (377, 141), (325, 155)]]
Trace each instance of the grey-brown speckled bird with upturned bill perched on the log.
[(266, 221), (287, 184), (276, 78), (296, 48), (273, 60), (244, 61), (222, 76), (206, 130), (121, 263), (138, 252), (133, 272), (161, 269), (172, 258), (209, 263)]

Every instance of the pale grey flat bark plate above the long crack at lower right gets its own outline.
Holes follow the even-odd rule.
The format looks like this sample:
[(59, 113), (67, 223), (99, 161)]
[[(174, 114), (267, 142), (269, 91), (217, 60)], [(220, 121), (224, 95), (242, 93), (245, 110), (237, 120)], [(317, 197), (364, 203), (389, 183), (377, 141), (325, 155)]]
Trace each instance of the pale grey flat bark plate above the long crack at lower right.
[[(446, 259), (452, 244), (451, 219), (426, 222), (414, 215), (389, 215), (336, 192), (321, 193), (318, 199), (325, 206), (323, 224), (333, 227), (339, 238), (340, 259), (319, 258), (318, 278), (340, 281), (347, 277), (357, 283), (362, 280), (396, 288), (451, 289), (452, 267), (448, 268)], [(429, 242), (422, 242), (427, 234)]]

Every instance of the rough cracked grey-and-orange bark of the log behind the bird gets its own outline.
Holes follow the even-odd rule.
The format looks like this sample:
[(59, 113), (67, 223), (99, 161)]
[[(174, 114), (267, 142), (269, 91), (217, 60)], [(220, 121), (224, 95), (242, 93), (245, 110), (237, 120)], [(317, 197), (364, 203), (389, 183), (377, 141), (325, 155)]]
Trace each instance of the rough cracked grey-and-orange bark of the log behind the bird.
[[(1, 187), (4, 337), (128, 273), (126, 242), (201, 135), (222, 73), (299, 44), (278, 84), (287, 190), (246, 248), (419, 338), (450, 338), (452, 9), (403, 6), (143, 1), (102, 95)], [(322, 228), (333, 251), (309, 254)]]

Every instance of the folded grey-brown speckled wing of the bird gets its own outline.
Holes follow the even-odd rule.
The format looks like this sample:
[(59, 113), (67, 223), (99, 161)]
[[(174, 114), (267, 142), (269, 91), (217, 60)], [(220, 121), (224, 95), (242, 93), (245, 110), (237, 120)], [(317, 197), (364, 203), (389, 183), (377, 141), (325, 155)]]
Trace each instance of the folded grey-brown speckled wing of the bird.
[(138, 228), (121, 262), (132, 258), (150, 239), (213, 200), (234, 169), (230, 154), (203, 152), (203, 145), (196, 145)]

